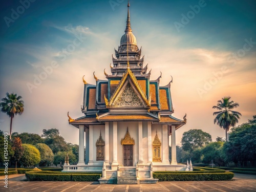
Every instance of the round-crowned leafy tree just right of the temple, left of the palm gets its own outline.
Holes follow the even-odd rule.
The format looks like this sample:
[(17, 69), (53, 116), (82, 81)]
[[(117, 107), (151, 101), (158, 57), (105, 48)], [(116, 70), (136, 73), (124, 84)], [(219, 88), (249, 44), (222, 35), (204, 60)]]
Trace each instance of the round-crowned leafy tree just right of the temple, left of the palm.
[(211, 135), (202, 130), (189, 130), (184, 132), (181, 139), (184, 151), (192, 152), (198, 147), (202, 147), (211, 141)]

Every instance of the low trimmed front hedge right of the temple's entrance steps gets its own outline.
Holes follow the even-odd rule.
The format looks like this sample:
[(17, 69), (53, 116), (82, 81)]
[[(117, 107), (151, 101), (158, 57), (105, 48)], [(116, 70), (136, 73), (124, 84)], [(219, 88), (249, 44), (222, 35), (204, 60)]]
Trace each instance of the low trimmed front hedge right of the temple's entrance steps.
[(234, 177), (233, 173), (184, 173), (184, 174), (160, 174), (153, 173), (155, 179), (159, 181), (224, 181), (231, 180)]

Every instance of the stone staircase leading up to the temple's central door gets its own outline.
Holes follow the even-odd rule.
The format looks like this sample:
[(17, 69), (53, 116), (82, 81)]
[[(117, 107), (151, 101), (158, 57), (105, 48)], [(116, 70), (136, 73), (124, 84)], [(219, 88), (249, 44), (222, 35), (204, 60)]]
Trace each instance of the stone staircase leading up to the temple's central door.
[(117, 177), (117, 184), (138, 184), (136, 167), (120, 167), (120, 176)]

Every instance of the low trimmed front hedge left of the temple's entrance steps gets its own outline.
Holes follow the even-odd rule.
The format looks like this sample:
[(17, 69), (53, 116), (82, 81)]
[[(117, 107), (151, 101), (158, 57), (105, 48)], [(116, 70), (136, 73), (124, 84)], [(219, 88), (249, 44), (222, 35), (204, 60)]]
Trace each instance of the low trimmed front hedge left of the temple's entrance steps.
[(63, 173), (63, 172), (26, 172), (26, 178), (29, 181), (97, 181), (101, 174), (88, 173)]

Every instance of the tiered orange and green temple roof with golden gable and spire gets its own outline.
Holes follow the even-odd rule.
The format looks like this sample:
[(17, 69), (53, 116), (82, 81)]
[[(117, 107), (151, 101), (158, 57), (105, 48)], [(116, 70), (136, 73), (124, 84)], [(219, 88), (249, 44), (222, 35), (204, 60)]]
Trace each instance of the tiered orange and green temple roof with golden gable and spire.
[(98, 79), (89, 84), (83, 79), (83, 117), (72, 119), (69, 123), (104, 124), (106, 121), (152, 121), (155, 124), (172, 124), (178, 127), (186, 123), (172, 116), (174, 113), (170, 92), (170, 81), (166, 86), (159, 86), (161, 75), (150, 80), (151, 71), (143, 67), (144, 56), (132, 33), (128, 4), (125, 34), (121, 37), (120, 46), (112, 55), (111, 75), (104, 74), (106, 80)]

